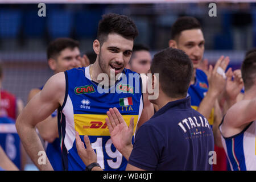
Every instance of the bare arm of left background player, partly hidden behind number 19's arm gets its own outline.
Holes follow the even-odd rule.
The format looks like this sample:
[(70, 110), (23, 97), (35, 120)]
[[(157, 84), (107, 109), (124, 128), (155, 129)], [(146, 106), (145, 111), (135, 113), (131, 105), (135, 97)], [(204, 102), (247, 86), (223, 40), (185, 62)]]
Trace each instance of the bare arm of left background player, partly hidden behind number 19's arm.
[[(38, 94), (40, 89), (32, 89), (30, 94), (28, 94), (28, 101), (31, 100), (36, 94)], [(40, 136), (49, 143), (52, 143), (58, 135), (57, 117), (52, 117), (51, 115), (44, 121), (38, 123), (36, 128), (39, 131)]]

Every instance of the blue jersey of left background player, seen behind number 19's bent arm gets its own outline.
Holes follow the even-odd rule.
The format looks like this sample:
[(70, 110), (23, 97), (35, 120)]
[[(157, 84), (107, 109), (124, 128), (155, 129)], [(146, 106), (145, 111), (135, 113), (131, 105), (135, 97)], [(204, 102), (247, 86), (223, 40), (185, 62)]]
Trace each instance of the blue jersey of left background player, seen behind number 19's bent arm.
[[(43, 86), (40, 88), (40, 90), (43, 89)], [(57, 110), (55, 110), (51, 117), (56, 117)], [(47, 141), (44, 141), (44, 150), (46, 150), (46, 155), (49, 159), (49, 162), (52, 165), (52, 168), (55, 171), (61, 171), (63, 170), (63, 166), (61, 163), (61, 150), (60, 150), (60, 138), (56, 138), (52, 143), (48, 143)]]

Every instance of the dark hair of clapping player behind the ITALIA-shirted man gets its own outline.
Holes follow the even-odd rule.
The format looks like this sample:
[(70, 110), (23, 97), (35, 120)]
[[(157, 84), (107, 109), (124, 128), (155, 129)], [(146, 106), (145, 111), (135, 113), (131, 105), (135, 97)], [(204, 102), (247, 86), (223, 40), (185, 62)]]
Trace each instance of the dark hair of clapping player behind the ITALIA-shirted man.
[(201, 29), (199, 20), (191, 16), (182, 16), (172, 24), (171, 39), (177, 39), (184, 30)]

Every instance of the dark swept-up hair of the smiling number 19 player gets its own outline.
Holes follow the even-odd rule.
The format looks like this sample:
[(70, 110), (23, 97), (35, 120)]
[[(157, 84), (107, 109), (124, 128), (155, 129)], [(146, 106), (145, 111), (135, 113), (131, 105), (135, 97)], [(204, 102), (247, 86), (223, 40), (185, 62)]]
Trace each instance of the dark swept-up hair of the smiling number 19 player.
[(138, 36), (137, 27), (128, 16), (113, 13), (103, 15), (98, 23), (97, 32), (97, 39), (101, 45), (112, 33), (119, 34), (129, 40), (134, 40)]

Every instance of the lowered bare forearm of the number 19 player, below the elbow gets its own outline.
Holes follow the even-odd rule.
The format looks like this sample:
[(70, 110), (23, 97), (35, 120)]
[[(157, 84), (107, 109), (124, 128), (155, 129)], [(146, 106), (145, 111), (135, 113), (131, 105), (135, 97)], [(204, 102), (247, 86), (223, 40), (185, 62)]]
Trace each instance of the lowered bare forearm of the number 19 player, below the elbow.
[(19, 122), (16, 122), (16, 129), (22, 140), (23, 147), (36, 167), (40, 170), (53, 170), (47, 156), (39, 153), (39, 151), (44, 151), (44, 148), (38, 134), (36, 134), (35, 128), (27, 125), (20, 125)]

